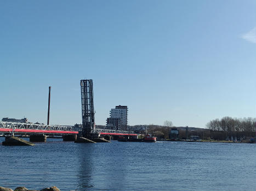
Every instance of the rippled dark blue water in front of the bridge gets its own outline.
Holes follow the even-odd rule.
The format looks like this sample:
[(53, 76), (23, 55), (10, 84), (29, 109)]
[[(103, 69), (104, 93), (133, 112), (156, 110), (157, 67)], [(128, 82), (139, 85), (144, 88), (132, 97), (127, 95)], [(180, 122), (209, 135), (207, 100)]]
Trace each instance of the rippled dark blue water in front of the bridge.
[[(4, 139), (0, 138), (2, 142)], [(255, 144), (0, 144), (0, 186), (61, 190), (255, 190)]]

